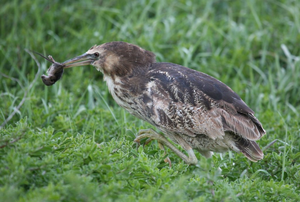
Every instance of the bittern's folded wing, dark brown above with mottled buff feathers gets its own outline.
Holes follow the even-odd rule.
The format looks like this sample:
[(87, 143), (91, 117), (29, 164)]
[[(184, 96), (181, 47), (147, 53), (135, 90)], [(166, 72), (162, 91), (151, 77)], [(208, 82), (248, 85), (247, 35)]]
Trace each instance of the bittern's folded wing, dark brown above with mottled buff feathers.
[(222, 138), (232, 131), (249, 140), (265, 134), (254, 112), (219, 80), (172, 63), (155, 63), (141, 100), (146, 120), (179, 134)]

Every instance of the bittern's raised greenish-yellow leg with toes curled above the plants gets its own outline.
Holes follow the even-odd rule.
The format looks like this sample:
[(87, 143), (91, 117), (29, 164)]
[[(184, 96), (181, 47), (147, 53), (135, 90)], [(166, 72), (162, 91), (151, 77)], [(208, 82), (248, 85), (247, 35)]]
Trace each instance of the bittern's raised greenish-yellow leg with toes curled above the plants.
[[(152, 140), (158, 140), (158, 142), (161, 143), (162, 145), (165, 145), (165, 146), (169, 147), (176, 155), (178, 155), (180, 158), (182, 158), (182, 160), (184, 160), (184, 162), (186, 164), (195, 165), (195, 164), (198, 163), (197, 157), (195, 156), (195, 154), (193, 152), (193, 149), (190, 146), (187, 147), (187, 149), (184, 148), (188, 153), (188, 156), (187, 156), (182, 151), (177, 149), (176, 146), (174, 146), (172, 143), (170, 143), (169, 140), (167, 140), (166, 137), (164, 137), (163, 135), (155, 132), (153, 129), (140, 130), (139, 131), (139, 136), (136, 137), (134, 142), (137, 143), (137, 146), (139, 146), (140, 145), (140, 140), (143, 139), (143, 138), (146, 138), (146, 137), (148, 137)], [(148, 139), (147, 141), (149, 143), (151, 140)]]

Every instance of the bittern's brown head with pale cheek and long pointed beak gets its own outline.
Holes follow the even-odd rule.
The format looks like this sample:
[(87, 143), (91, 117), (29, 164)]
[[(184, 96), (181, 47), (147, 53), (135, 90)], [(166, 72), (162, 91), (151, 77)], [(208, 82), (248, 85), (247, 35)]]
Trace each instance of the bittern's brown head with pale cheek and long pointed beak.
[(154, 53), (134, 44), (115, 41), (91, 47), (86, 53), (67, 60), (64, 68), (93, 65), (104, 75), (126, 76), (155, 63)]

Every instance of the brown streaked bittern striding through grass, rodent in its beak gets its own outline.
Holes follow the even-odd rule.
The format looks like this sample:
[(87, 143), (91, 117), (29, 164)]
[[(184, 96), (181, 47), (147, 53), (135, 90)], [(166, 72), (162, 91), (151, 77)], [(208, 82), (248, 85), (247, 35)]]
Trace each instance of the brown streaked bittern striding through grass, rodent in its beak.
[[(263, 158), (255, 140), (266, 132), (243, 100), (221, 81), (181, 65), (156, 62), (155, 54), (134, 44), (109, 42), (91, 47), (64, 63), (64, 68), (92, 65), (104, 74), (113, 99), (129, 113), (164, 135), (141, 130), (134, 140), (157, 140), (185, 163), (198, 162), (193, 149), (206, 158), (233, 150), (250, 161)], [(170, 159), (167, 158), (170, 163)]]

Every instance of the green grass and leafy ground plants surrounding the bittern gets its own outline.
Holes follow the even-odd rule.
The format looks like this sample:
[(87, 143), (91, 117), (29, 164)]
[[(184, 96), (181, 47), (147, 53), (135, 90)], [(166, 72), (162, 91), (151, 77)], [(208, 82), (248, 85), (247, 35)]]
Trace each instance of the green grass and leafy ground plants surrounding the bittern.
[[(300, 200), (299, 1), (100, 2), (1, 2), (0, 124), (16, 113), (0, 129), (0, 201)], [(63, 62), (109, 41), (230, 86), (267, 131), (264, 159), (197, 153), (187, 166), (168, 149), (169, 168), (155, 142), (135, 149), (152, 126), (117, 106), (92, 66), (48, 87), (36, 56), (34, 81), (25, 49)]]

